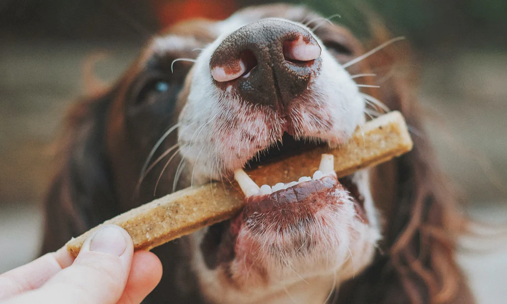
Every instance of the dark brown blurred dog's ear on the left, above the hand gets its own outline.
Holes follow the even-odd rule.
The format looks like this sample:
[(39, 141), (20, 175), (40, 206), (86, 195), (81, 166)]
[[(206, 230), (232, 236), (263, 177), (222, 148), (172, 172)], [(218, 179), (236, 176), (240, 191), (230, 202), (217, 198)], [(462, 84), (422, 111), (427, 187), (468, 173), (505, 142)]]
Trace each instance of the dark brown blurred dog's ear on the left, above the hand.
[(43, 253), (60, 248), (71, 237), (118, 213), (104, 136), (115, 94), (112, 89), (68, 110), (58, 142), (60, 171), (46, 198)]

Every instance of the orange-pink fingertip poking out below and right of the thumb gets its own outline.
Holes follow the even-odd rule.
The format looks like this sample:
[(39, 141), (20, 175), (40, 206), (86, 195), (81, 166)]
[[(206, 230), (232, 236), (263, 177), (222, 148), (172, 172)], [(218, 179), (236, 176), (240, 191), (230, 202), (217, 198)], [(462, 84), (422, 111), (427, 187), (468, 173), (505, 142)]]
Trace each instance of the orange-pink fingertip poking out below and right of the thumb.
[(160, 282), (162, 263), (152, 252), (137, 251), (132, 259), (127, 285), (118, 304), (139, 304)]

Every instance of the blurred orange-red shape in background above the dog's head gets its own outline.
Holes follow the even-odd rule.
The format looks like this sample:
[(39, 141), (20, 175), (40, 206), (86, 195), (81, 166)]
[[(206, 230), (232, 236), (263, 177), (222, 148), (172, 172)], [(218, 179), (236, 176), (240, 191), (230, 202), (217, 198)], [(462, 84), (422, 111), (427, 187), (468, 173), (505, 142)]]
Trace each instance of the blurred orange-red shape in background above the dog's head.
[(234, 0), (152, 0), (162, 28), (191, 18), (224, 19), (236, 11)]

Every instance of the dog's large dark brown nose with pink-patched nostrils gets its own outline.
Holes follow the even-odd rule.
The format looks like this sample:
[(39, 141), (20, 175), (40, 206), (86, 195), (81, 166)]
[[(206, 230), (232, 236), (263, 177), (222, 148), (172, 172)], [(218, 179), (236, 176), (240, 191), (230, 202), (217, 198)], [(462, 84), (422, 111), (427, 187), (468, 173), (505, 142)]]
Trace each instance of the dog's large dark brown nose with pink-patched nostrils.
[(320, 46), (301, 26), (265, 19), (231, 33), (211, 56), (211, 75), (247, 102), (286, 106), (308, 88), (321, 65)]

